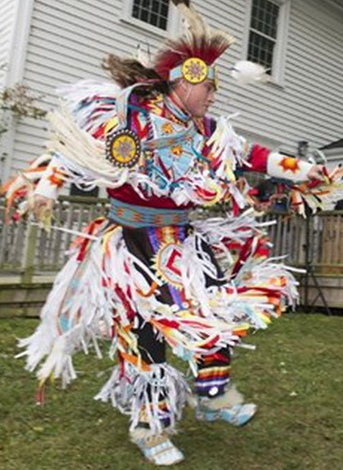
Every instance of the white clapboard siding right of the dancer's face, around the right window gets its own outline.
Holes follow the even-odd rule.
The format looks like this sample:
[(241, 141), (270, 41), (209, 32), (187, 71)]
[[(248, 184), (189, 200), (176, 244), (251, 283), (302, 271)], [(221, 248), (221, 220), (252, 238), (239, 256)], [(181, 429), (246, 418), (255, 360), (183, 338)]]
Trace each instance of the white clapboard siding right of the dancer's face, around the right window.
[[(246, 2), (235, 3), (241, 4), (244, 16)], [(232, 23), (232, 16), (228, 18)], [(240, 21), (241, 32), (236, 48), (226, 56), (233, 61), (242, 50), (243, 18), (234, 21), (236, 27)], [(313, 149), (342, 138), (343, 11), (320, 0), (292, 0), (285, 60), (283, 87), (239, 87), (224, 67), (221, 111), (232, 96), (230, 108), (242, 112), (241, 130), (269, 137), (287, 152), (296, 151), (298, 140), (308, 140)]]

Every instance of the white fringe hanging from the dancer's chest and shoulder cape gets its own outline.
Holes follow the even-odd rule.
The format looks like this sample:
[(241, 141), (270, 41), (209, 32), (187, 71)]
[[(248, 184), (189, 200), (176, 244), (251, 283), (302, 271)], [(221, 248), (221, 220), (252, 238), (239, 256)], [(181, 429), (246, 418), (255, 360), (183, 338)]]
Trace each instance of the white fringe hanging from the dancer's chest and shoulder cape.
[[(86, 125), (81, 121), (75, 121), (66, 106), (50, 113), (48, 118), (54, 130), (54, 135), (48, 142), (48, 148), (60, 160), (66, 179), (74, 184), (93, 189), (94, 186), (118, 188), (127, 183), (142, 198), (145, 198), (145, 194), (168, 196), (178, 205), (189, 202), (198, 205), (215, 203), (222, 200), (228, 193), (232, 195), (240, 208), (244, 208), (247, 204), (247, 195), (242, 194), (237, 188), (232, 173), (236, 162), (242, 163), (244, 160), (242, 139), (233, 130), (230, 131), (228, 141), (221, 142), (222, 139), (218, 138), (221, 142), (218, 141), (218, 143), (213, 137), (213, 145), (218, 143), (218, 151), (221, 153), (221, 163), (213, 177), (208, 174), (206, 168), (196, 164), (196, 156), (194, 156), (194, 162), (184, 181), (174, 186), (174, 181), (171, 180), (165, 188), (161, 188), (152, 178), (137, 168), (118, 168), (108, 162), (103, 140), (93, 138)], [(223, 120), (225, 121), (224, 118)], [(221, 150), (222, 144), (223, 150)], [(232, 182), (224, 185), (220, 182), (223, 178)], [(213, 194), (210, 201), (204, 201), (202, 191)]]

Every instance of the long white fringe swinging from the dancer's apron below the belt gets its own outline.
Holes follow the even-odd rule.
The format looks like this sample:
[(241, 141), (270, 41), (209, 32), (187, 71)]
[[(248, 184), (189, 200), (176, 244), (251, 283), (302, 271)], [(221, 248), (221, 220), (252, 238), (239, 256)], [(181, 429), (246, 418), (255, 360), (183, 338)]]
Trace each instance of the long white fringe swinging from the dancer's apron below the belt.
[[(243, 216), (243, 220), (249, 220), (249, 216)], [(240, 228), (238, 220), (232, 220), (232, 224), (235, 228)], [(250, 227), (250, 232), (247, 230), (249, 235), (257, 230), (257, 226), (255, 224), (255, 227)], [(201, 227), (199, 223), (198, 228)], [(220, 220), (212, 220), (208, 237), (218, 243), (220, 237), (218, 239), (218, 235), (215, 235), (215, 230), (219, 227), (223, 227), (223, 235), (230, 235), (233, 230), (230, 228), (230, 221), (225, 226)], [(103, 239), (108, 230), (112, 230), (111, 236)], [(244, 234), (239, 231), (237, 230), (238, 240), (244, 241)], [(205, 233), (205, 228), (203, 232)], [(72, 367), (72, 354), (79, 349), (84, 349), (87, 353), (89, 345), (93, 344), (100, 355), (97, 339), (103, 337), (103, 326), (108, 332), (111, 331), (113, 314), (114, 320), (121, 327), (129, 325), (128, 306), (145, 321), (154, 320), (155, 328), (161, 328), (161, 335), (164, 330), (159, 320), (176, 322), (178, 328), (171, 330), (172, 336), (168, 336), (171, 334), (169, 331), (164, 337), (175, 354), (189, 361), (192, 366), (196, 354), (213, 354), (222, 347), (237, 345), (239, 338), (234, 332), (236, 327), (249, 324), (254, 328), (266, 328), (262, 313), (267, 311), (275, 315), (274, 306), (269, 304), (267, 296), (261, 293), (256, 296), (252, 293), (249, 296), (241, 295), (237, 293), (240, 286), (269, 286), (270, 279), (283, 276), (286, 286), (276, 286), (275, 289), (281, 291), (285, 302), (293, 305), (298, 295), (295, 279), (282, 264), (254, 257), (247, 259), (231, 284), (223, 279), (223, 286), (206, 287), (206, 276), (217, 279), (217, 269), (208, 253), (203, 250), (205, 235), (195, 230), (180, 247), (181, 284), (192, 306), (192, 313), (185, 316), (184, 310), (176, 305), (159, 300), (158, 288), (150, 297), (140, 296), (139, 291), (149, 291), (153, 281), (157, 282), (157, 286), (162, 281), (149, 267), (145, 267), (145, 275), (142, 274), (139, 269), (142, 263), (128, 251), (122, 228), (106, 221), (93, 235), (97, 239), (89, 241), (89, 250), (83, 261), (78, 262), (75, 253), (57, 276), (42, 310), (42, 323), (38, 330), (20, 342), (20, 346), (26, 348), (21, 355), (27, 356), (26, 367), (30, 371), (45, 360), (38, 371), (39, 379), (44, 380), (53, 375), (56, 378), (62, 377), (64, 386), (69, 384), (76, 376)], [(125, 295), (125, 302), (118, 294), (118, 288)], [(216, 341), (212, 347), (203, 346), (204, 342), (213, 338)], [(130, 349), (137, 354), (137, 338), (130, 335), (128, 339)], [(115, 345), (116, 339), (113, 340), (113, 349)], [(118, 348), (122, 348), (120, 342)], [(196, 369), (194, 373), (196, 374)]]

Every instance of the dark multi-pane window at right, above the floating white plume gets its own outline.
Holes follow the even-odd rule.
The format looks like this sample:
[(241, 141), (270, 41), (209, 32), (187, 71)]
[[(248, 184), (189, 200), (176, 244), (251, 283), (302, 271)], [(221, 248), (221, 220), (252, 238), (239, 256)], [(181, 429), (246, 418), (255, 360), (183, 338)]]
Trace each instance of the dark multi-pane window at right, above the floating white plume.
[(266, 67), (276, 82), (283, 72), (289, 0), (252, 0), (247, 60)]

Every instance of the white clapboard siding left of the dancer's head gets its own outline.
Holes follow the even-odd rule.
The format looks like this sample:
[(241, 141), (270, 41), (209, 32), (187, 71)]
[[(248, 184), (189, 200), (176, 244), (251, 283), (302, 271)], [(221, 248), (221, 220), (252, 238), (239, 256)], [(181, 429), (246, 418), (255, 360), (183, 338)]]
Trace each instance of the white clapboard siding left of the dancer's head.
[[(89, 77), (105, 77), (101, 60), (108, 52), (135, 52), (138, 43), (155, 50), (162, 38), (123, 21), (122, 0), (35, 0), (24, 82), (43, 95), (42, 106), (56, 103), (55, 88)], [(47, 136), (42, 124), (18, 125), (12, 170), (38, 155)]]

